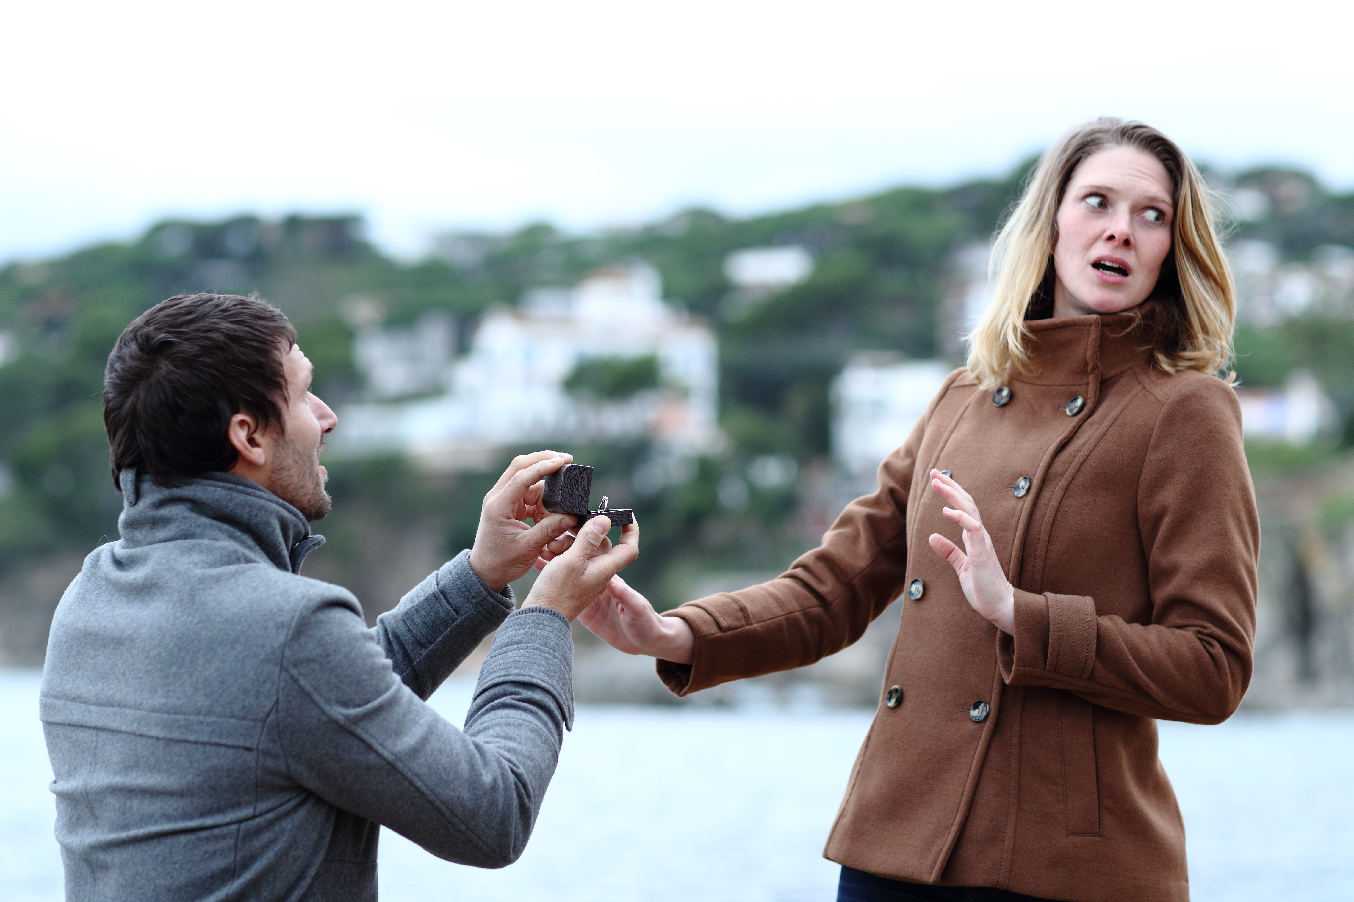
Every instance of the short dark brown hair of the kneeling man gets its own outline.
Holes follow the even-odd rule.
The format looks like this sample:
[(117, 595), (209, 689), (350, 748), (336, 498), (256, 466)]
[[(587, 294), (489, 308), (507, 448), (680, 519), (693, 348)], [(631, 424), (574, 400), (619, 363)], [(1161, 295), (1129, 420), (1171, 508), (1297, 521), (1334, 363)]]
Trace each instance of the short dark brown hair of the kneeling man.
[(236, 464), (237, 412), (283, 425), (283, 353), (297, 330), (272, 304), (240, 295), (177, 295), (127, 326), (103, 376), (112, 481), (129, 467), (173, 485)]

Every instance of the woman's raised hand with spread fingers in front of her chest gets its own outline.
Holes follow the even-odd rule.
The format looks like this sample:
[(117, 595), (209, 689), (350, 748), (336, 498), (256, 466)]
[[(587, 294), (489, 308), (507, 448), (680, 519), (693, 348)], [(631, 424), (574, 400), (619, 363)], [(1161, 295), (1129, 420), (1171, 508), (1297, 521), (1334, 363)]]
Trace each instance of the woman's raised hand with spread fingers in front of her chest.
[[(978, 504), (959, 483), (938, 469), (930, 472), (932, 488), (949, 507), (941, 513), (964, 530), (964, 550), (940, 533), (932, 533), (930, 546), (949, 561), (959, 576), (959, 586), (974, 610), (995, 623), (998, 629), (1016, 634), (1016, 590), (1011, 588), (1002, 563), (997, 559), (992, 538), (983, 526)], [(596, 632), (596, 630), (594, 630)]]

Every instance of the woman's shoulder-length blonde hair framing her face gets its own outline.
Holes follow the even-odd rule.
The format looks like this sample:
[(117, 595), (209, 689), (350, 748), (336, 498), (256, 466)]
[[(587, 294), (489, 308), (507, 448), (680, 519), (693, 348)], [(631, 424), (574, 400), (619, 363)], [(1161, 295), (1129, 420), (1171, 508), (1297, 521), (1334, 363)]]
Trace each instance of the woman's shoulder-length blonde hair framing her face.
[(1156, 365), (1169, 373), (1215, 373), (1231, 364), (1236, 289), (1213, 224), (1213, 192), (1175, 142), (1140, 122), (1102, 118), (1072, 128), (1039, 161), (997, 234), (990, 266), (992, 303), (968, 337), (968, 371), (984, 388), (1029, 369), (1025, 321), (1049, 315), (1057, 207), (1083, 160), (1110, 147), (1152, 154), (1171, 179), (1171, 250), (1151, 300), (1139, 308)]

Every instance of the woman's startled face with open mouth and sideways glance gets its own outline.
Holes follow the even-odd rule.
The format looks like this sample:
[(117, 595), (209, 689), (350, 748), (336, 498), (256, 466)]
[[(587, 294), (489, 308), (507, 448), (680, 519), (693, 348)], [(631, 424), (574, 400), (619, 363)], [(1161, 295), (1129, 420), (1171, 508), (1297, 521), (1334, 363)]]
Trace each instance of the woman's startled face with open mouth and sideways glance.
[(1137, 147), (1094, 153), (1057, 207), (1053, 315), (1117, 314), (1152, 293), (1171, 250), (1171, 179)]

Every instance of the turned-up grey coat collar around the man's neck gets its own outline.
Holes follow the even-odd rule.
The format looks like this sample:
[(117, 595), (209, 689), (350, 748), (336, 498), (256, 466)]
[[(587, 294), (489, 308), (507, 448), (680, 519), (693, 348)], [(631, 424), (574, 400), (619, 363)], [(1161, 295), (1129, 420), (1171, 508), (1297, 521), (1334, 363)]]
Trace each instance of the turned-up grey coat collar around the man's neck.
[(180, 485), (157, 485), (125, 469), (118, 531), (129, 548), (198, 540), (226, 541), (278, 569), (301, 572), (301, 563), (324, 536), (295, 507), (263, 485), (230, 473), (207, 473)]

